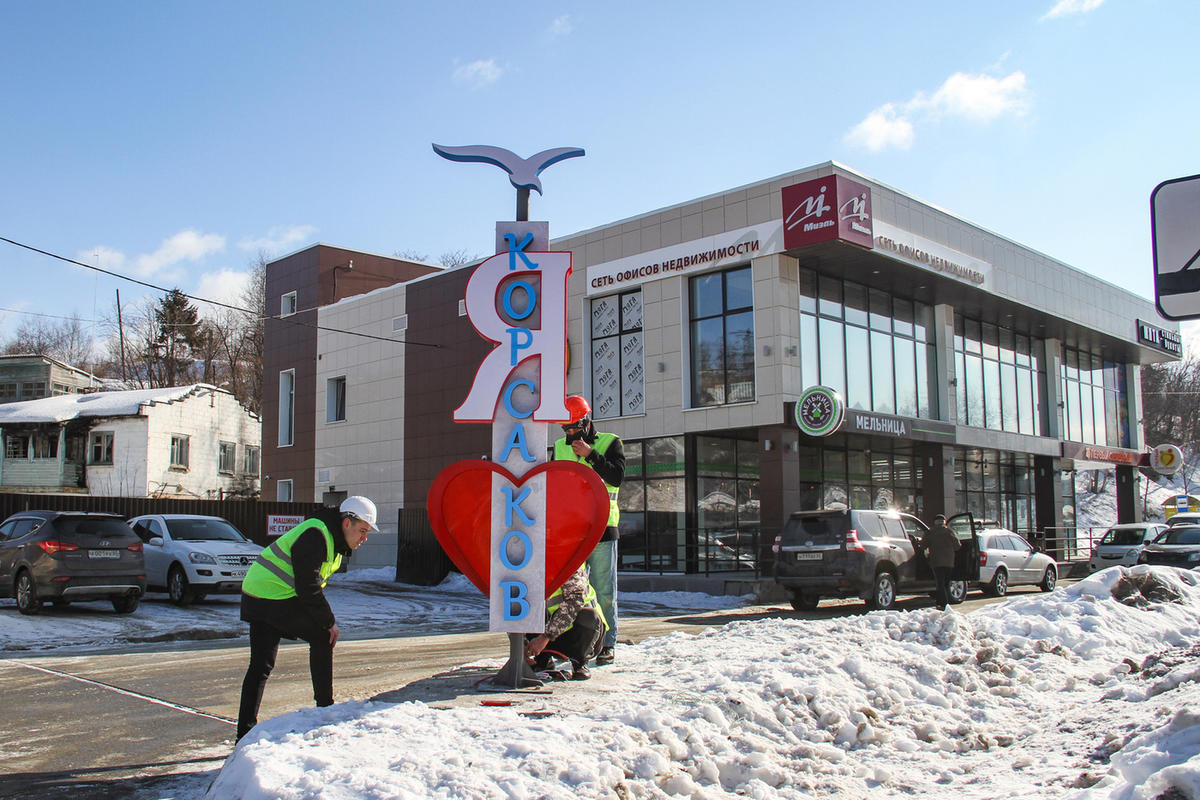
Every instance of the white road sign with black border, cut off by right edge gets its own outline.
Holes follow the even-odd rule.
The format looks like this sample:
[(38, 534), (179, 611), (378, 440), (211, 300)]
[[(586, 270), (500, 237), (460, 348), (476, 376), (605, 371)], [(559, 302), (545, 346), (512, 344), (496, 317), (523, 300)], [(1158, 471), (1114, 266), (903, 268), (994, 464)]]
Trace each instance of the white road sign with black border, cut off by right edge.
[(1200, 318), (1200, 175), (1156, 186), (1150, 224), (1158, 312), (1166, 319)]

